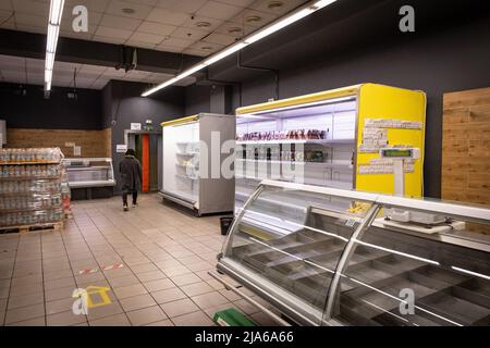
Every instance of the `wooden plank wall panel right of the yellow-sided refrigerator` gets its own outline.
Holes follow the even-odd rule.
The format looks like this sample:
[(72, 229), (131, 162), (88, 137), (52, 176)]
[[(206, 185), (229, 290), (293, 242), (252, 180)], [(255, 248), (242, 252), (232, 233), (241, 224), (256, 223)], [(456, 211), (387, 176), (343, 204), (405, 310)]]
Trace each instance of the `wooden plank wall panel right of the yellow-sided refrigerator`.
[(490, 88), (445, 94), (443, 108), (442, 198), (490, 207)]

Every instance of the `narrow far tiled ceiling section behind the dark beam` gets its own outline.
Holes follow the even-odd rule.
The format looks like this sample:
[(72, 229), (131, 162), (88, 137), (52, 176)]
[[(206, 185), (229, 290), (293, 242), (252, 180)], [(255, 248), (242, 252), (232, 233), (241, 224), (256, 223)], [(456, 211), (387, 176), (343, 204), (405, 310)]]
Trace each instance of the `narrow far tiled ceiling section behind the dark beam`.
[[(76, 69), (76, 79), (74, 78)], [(160, 84), (172, 77), (170, 74), (150, 73), (144, 71), (115, 70), (88, 64), (56, 62), (52, 85), (57, 87), (102, 89), (111, 79)], [(45, 61), (39, 59), (11, 57), (0, 54), (0, 82), (42, 85), (45, 80)], [(194, 79), (181, 80), (176, 86), (186, 86)]]

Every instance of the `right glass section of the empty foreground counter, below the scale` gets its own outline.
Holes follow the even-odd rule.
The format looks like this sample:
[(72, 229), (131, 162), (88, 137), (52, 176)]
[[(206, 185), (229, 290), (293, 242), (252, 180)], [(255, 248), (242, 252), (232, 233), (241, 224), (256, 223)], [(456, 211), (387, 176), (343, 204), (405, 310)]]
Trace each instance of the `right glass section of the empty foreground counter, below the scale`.
[(490, 325), (489, 221), (384, 209), (354, 240), (332, 316), (351, 325)]

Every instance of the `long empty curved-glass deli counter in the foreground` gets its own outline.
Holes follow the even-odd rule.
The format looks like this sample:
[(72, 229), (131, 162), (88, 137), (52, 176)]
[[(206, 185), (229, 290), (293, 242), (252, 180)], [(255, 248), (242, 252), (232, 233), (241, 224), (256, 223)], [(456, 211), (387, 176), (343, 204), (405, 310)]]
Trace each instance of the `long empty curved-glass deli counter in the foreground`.
[(217, 268), (301, 325), (490, 325), (485, 208), (265, 181)]

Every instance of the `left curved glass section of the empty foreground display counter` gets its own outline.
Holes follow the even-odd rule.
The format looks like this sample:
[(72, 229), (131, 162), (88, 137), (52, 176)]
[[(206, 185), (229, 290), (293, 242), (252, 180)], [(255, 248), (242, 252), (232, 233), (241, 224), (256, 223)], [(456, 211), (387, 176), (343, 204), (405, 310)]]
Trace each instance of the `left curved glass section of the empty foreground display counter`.
[(224, 256), (289, 293), (296, 308), (320, 323), (339, 259), (370, 203), (262, 187), (241, 211)]

